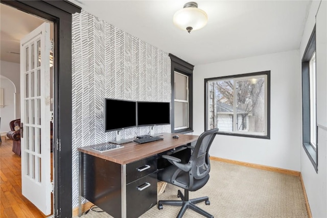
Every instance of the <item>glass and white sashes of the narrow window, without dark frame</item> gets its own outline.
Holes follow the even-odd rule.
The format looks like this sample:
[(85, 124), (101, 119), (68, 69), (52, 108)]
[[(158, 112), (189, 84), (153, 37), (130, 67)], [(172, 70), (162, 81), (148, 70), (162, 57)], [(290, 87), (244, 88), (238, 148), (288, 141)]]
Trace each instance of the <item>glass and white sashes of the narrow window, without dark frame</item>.
[(189, 77), (174, 72), (175, 130), (189, 128)]

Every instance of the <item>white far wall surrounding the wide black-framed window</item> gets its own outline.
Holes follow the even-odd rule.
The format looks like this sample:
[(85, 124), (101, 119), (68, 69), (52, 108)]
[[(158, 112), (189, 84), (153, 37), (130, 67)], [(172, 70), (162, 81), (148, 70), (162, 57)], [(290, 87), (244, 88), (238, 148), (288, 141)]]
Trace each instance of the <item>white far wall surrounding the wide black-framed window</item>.
[(299, 171), (301, 75), (299, 51), (194, 67), (194, 134), (204, 131), (204, 79), (270, 70), (270, 139), (217, 135), (211, 156)]

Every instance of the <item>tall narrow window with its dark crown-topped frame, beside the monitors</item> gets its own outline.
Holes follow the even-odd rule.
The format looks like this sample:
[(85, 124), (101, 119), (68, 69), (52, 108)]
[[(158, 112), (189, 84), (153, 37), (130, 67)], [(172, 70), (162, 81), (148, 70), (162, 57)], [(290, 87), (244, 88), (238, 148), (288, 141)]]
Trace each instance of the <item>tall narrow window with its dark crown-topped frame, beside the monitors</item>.
[(171, 58), (172, 115), (171, 132), (193, 132), (193, 65), (169, 54)]

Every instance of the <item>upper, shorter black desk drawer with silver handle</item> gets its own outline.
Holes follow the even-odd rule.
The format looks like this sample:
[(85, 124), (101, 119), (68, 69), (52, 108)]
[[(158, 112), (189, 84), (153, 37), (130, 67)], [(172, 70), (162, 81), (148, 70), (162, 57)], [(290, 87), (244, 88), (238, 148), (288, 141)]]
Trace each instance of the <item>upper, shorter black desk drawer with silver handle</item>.
[(157, 170), (156, 155), (126, 165), (126, 183), (129, 184)]

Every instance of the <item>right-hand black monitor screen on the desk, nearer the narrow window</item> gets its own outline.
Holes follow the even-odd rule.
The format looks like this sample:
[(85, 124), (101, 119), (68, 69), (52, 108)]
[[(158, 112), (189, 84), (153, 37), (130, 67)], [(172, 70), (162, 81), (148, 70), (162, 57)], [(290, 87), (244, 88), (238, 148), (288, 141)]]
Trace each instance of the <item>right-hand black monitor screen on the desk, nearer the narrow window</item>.
[(169, 102), (137, 102), (137, 126), (170, 124)]

